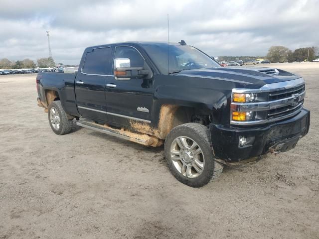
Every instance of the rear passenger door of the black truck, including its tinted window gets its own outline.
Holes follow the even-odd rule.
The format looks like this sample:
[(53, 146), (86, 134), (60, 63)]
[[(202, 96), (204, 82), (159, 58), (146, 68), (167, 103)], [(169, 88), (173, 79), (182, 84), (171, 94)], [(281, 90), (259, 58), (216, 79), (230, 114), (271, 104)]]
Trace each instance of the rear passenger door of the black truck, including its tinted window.
[(86, 53), (75, 79), (78, 111), (85, 118), (106, 121), (105, 85), (112, 74), (112, 48), (98, 47)]

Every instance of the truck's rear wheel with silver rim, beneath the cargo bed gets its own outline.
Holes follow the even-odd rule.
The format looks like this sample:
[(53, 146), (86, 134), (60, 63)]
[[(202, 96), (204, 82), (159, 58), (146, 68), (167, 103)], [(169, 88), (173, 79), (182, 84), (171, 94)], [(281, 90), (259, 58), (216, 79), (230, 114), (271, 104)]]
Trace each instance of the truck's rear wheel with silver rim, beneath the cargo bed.
[(71, 132), (73, 120), (67, 119), (60, 101), (53, 101), (48, 107), (49, 124), (58, 135)]

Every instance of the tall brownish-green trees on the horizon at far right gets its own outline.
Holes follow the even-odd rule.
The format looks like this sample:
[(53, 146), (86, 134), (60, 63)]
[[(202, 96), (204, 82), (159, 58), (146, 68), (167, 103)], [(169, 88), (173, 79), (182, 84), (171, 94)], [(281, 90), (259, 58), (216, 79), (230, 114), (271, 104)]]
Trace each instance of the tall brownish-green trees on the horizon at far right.
[(285, 46), (272, 46), (268, 49), (267, 58), (271, 62), (313, 61), (318, 58), (318, 47), (298, 48), (294, 52)]

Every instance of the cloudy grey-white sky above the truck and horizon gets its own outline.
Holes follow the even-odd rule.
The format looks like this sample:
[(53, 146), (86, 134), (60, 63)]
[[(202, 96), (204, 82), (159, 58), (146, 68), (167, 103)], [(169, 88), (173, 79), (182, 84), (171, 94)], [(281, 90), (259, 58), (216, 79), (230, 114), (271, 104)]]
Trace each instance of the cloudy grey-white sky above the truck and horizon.
[(180, 39), (209, 55), (319, 46), (319, 0), (0, 0), (0, 58), (78, 64), (85, 47)]

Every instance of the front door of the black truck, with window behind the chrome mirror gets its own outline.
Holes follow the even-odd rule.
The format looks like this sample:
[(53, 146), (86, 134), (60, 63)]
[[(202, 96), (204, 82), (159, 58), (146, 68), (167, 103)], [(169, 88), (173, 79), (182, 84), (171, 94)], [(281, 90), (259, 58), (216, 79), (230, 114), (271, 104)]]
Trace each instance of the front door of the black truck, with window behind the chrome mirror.
[[(130, 59), (130, 67), (143, 67), (141, 53), (131, 46), (117, 46), (114, 59)], [(106, 102), (108, 121), (131, 125), (131, 121), (151, 123), (154, 88), (152, 80), (107, 78)]]

